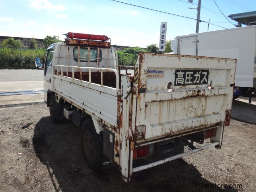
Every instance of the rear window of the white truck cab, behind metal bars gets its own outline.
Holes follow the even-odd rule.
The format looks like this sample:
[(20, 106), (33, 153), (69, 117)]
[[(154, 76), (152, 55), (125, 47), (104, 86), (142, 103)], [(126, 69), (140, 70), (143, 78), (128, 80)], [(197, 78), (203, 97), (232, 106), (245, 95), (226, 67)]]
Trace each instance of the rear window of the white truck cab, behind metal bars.
[[(99, 49), (100, 50), (100, 49)], [(90, 62), (97, 62), (98, 49), (90, 48)], [(74, 48), (74, 60), (78, 61), (78, 47)], [(101, 50), (99, 54), (99, 62), (101, 61)], [(88, 62), (88, 48), (80, 47), (80, 62)]]

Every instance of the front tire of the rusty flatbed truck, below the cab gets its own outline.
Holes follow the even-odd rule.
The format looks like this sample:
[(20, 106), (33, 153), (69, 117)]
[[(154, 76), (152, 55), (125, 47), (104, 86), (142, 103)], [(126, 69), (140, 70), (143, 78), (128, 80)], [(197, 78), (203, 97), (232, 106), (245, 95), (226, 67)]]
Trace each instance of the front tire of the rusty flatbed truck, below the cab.
[(54, 123), (59, 123), (64, 120), (63, 106), (56, 102), (54, 95), (51, 95), (49, 98), (49, 110), (51, 120)]

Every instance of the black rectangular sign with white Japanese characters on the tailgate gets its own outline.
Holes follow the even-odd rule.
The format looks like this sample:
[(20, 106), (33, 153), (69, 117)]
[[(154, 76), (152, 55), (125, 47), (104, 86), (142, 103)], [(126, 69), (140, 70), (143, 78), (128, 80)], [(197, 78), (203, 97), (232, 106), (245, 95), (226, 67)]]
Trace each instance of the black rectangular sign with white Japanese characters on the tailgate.
[(174, 86), (208, 84), (209, 70), (175, 70)]

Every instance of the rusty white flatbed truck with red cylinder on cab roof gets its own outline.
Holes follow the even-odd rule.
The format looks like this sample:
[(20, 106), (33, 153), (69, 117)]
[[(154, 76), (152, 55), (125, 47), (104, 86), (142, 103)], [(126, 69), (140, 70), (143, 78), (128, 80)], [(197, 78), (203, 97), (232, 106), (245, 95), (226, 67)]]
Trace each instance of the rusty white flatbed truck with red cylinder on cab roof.
[[(81, 127), (89, 168), (115, 165), (128, 181), (134, 172), (221, 147), (235, 59), (141, 52), (128, 74), (106, 36), (67, 37), (47, 49), (44, 99), (54, 122), (64, 116)], [(139, 159), (145, 164), (135, 166)]]

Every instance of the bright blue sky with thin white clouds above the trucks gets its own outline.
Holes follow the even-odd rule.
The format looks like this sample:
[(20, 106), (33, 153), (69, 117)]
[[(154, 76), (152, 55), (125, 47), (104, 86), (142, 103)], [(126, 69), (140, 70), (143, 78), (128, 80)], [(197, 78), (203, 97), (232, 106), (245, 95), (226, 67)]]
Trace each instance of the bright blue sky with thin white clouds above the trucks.
[[(198, 0), (119, 0), (162, 12), (196, 19)], [(215, 0), (230, 14), (256, 11), (256, 0)], [(209, 31), (235, 28), (214, 0), (202, 0), (200, 20)], [(194, 9), (189, 9), (194, 8)], [(106, 35), (120, 46), (159, 45), (160, 23), (167, 22), (166, 40), (196, 32), (196, 20), (114, 2), (112, 0), (0, 0), (0, 36), (45, 38), (67, 32)], [(228, 18), (229, 19), (229, 18)], [(218, 26), (214, 26), (214, 25)], [(220, 27), (221, 26), (221, 27)], [(199, 32), (208, 23), (200, 22)]]

